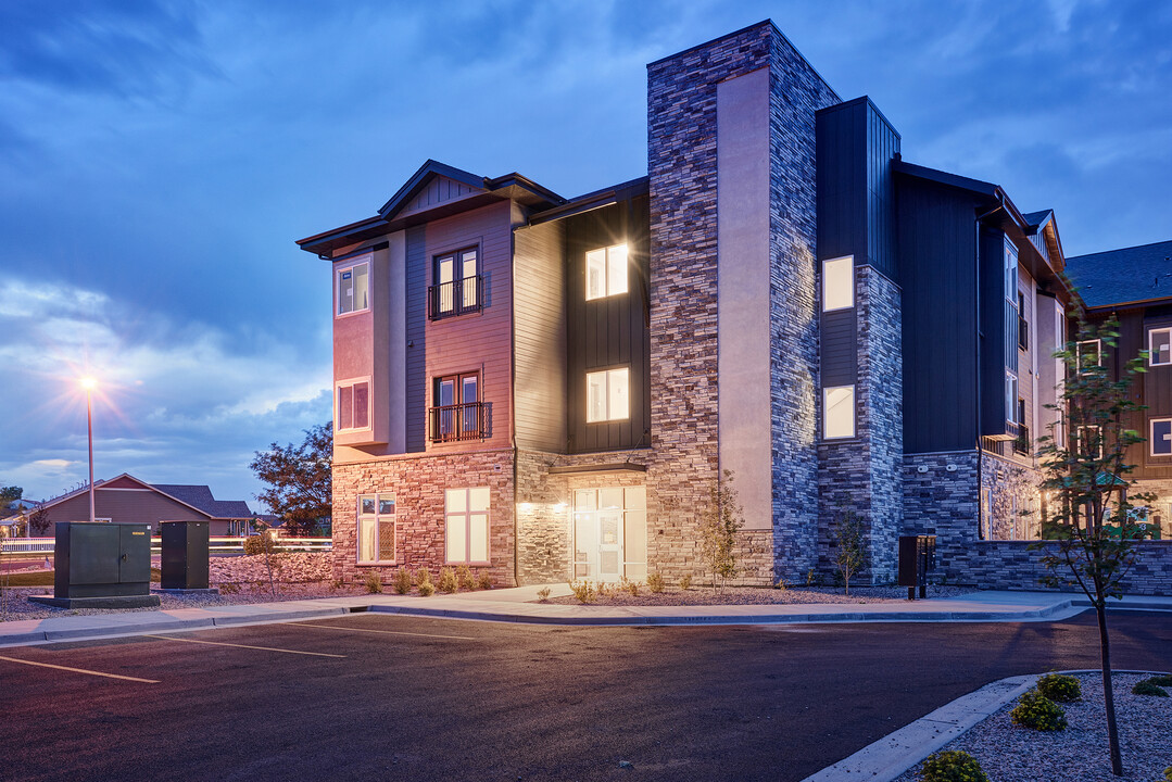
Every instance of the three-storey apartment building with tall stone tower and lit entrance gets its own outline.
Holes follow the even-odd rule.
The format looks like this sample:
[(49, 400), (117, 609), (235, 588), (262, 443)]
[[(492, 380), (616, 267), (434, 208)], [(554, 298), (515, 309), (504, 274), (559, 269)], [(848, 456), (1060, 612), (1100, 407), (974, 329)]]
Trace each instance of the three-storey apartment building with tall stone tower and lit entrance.
[(566, 199), (428, 161), (298, 243), (333, 266), (335, 574), (701, 573), (728, 469), (755, 583), (829, 577), (851, 509), (865, 579), (928, 532), (950, 583), (1035, 586), (1078, 301), (1054, 215), (905, 162), (769, 21), (650, 63), (647, 127), (646, 177)]

